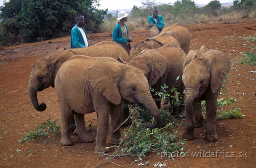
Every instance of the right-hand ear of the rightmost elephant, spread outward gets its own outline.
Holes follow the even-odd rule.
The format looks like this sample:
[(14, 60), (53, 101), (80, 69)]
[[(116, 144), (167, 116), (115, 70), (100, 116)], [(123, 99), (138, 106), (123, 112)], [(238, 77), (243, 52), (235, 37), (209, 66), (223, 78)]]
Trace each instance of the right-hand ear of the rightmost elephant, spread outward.
[(229, 57), (222, 51), (211, 49), (200, 59), (210, 61), (210, 85), (212, 93), (216, 93), (220, 89), (224, 77), (228, 75), (230, 69)]

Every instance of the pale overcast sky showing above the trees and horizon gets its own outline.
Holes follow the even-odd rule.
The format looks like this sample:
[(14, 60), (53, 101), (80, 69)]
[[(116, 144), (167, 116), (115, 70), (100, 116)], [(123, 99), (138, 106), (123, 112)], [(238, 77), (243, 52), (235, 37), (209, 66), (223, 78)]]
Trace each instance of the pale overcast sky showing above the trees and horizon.
[[(8, 0), (6, 0), (8, 1)], [(174, 3), (177, 0), (155, 0), (156, 3)], [(233, 2), (233, 0), (219, 0), (220, 3)], [(0, 6), (3, 5), (4, 0), (0, 0)], [(208, 4), (211, 0), (194, 0), (196, 4)], [(118, 10), (118, 9), (132, 9), (133, 6), (141, 6), (140, 0), (100, 0), (99, 9)]]

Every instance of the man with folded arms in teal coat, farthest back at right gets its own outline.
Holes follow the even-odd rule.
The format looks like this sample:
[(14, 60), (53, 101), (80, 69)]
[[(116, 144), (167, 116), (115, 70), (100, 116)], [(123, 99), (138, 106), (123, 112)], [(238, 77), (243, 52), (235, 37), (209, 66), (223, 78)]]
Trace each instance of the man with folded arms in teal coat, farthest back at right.
[(164, 28), (164, 17), (162, 15), (158, 15), (158, 8), (152, 9), (152, 16), (148, 17), (148, 27), (151, 29), (153, 26), (156, 26), (161, 33)]

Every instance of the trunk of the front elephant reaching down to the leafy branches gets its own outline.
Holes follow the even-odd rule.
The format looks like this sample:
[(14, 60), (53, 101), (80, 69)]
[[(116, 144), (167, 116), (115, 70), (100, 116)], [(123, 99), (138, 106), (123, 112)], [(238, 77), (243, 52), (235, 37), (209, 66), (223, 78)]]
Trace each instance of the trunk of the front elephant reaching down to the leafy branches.
[(151, 93), (149, 93), (148, 98), (146, 98), (145, 100), (146, 100), (145, 102), (141, 102), (141, 103), (143, 103), (148, 108), (148, 110), (152, 113), (152, 115), (154, 115), (154, 118), (155, 118), (153, 124), (145, 123), (145, 127), (146, 128), (156, 128), (161, 124), (162, 117), (161, 117), (160, 112), (156, 106), (156, 103), (154, 102), (154, 100), (151, 96)]

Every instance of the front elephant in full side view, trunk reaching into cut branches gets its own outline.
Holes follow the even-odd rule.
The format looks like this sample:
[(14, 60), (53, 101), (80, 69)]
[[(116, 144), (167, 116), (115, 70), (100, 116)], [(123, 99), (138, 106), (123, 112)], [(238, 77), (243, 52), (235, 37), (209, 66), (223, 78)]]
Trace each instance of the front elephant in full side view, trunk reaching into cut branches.
[(79, 142), (92, 142), (87, 133), (84, 114), (97, 113), (97, 152), (105, 149), (109, 115), (111, 117), (111, 144), (120, 142), (122, 98), (136, 104), (144, 104), (154, 115), (154, 123), (145, 123), (147, 128), (156, 128), (161, 115), (150, 93), (148, 80), (136, 67), (110, 57), (87, 57), (75, 55), (60, 67), (55, 80), (55, 89), (60, 103), (62, 118), (61, 144), (72, 145), (69, 123), (75, 115)]

